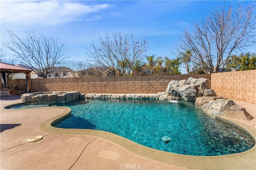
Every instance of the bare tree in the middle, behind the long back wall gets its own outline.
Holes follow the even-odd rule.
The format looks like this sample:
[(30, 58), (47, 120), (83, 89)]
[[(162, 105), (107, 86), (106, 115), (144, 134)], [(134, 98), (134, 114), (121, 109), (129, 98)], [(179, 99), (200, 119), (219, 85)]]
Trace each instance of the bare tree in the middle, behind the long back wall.
[(145, 57), (148, 42), (146, 39), (138, 41), (133, 34), (113, 32), (112, 37), (105, 33), (99, 36), (100, 45), (96, 47), (94, 42), (87, 49), (90, 61), (110, 69), (114, 76), (128, 76), (132, 72), (132, 66), (136, 60)]

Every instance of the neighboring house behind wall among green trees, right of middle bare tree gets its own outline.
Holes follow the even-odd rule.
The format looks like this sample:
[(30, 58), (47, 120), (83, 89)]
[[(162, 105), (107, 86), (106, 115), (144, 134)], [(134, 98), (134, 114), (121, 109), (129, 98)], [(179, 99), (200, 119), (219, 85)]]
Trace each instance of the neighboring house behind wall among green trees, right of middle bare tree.
[[(158, 67), (158, 68), (157, 68)], [(168, 68), (164, 66), (154, 66), (154, 68), (142, 67), (138, 70), (138, 74), (136, 70), (132, 70), (133, 75), (141, 76), (141, 75), (157, 75), (157, 74), (168, 74)]]

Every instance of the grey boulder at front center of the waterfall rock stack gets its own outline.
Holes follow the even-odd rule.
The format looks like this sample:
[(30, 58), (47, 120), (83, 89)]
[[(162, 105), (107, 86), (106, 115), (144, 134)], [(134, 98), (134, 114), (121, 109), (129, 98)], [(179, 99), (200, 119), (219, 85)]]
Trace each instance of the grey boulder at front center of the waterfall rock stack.
[(183, 100), (186, 102), (193, 101), (197, 94), (198, 88), (195, 85), (185, 85), (178, 89), (178, 92)]

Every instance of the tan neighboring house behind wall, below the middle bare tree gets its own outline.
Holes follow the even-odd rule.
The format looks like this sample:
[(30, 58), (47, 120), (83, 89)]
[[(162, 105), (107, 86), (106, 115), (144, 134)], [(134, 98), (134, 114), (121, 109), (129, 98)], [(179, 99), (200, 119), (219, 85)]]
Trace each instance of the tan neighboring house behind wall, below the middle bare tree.
[[(116, 70), (117, 73), (117, 70)], [(108, 77), (108, 76), (114, 76), (114, 73), (112, 70), (110, 70), (108, 67), (91, 67), (87, 68), (85, 70), (81, 70), (80, 74), (82, 74), (82, 77)]]

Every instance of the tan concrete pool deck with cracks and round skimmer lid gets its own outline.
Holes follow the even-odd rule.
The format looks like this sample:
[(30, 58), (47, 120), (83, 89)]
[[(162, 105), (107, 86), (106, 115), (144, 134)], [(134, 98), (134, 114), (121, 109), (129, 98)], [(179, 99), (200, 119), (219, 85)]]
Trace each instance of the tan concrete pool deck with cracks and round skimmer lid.
[[(18, 95), (1, 97), (1, 169), (188, 169), (181, 167), (188, 164), (183, 157), (176, 156), (175, 158), (174, 156), (172, 158), (177, 159), (178, 162), (180, 161), (180, 166), (175, 166), (153, 160), (159, 157), (164, 158), (162, 152), (153, 155), (152, 159), (135, 154), (134, 152), (138, 150), (135, 150), (137, 147), (133, 147), (133, 144), (124, 142), (130, 150), (116, 144), (118, 141), (127, 140), (122, 139), (122, 137), (114, 143), (106, 140), (106, 136), (82, 135), (79, 132), (81, 129), (50, 133), (50, 130), (55, 131), (58, 128), (51, 129), (47, 122), (51, 122), (52, 118), (56, 116), (66, 114), (65, 112), (68, 112), (69, 109), (65, 107), (21, 110), (3, 108), (18, 102), (20, 102), (20, 96)], [(255, 108), (255, 105), (246, 107)], [(255, 117), (255, 115), (252, 116)], [(243, 123), (251, 125), (251, 127), (254, 125), (255, 132), (255, 119), (254, 123), (251, 121)], [(46, 132), (47, 129), (48, 132)], [(102, 135), (104, 136), (104, 134), (106, 133)], [(36, 135), (42, 135), (43, 139), (35, 143), (27, 143), (28, 138)], [(116, 136), (108, 134), (108, 137), (112, 140)], [(135, 149), (132, 150), (132, 148)], [(143, 148), (141, 147), (139, 150), (143, 150)], [(152, 153), (148, 152), (148, 155), (150, 156)], [(225, 156), (219, 158), (221, 161)], [(238, 162), (235, 165), (236, 169), (256, 168), (255, 152), (254, 156), (251, 155), (250, 157), (241, 155), (239, 160), (236, 161)], [(200, 157), (198, 162), (200, 162)], [(193, 162), (193, 164), (198, 164), (198, 162)], [(212, 162), (211, 157), (208, 157), (207, 162)], [(216, 164), (216, 162), (212, 163)], [(216, 164), (213, 169), (229, 169), (228, 167), (227, 164)], [(207, 169), (207, 167), (204, 169)]]

